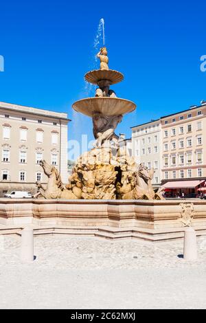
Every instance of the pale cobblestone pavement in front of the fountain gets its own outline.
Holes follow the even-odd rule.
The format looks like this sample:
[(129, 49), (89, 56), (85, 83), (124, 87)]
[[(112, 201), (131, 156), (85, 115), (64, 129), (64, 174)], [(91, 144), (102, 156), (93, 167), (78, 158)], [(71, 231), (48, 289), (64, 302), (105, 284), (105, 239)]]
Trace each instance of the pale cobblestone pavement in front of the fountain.
[(32, 264), (19, 259), (21, 238), (0, 237), (0, 308), (205, 308), (206, 238), (198, 260), (183, 241), (108, 241), (36, 236)]

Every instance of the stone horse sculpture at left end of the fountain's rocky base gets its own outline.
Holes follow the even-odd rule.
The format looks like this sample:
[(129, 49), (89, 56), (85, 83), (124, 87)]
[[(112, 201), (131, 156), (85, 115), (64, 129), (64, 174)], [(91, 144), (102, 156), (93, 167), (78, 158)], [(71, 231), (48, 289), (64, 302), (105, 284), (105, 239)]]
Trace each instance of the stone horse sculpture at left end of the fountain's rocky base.
[(34, 198), (43, 197), (45, 199), (78, 199), (72, 190), (67, 189), (60, 177), (60, 173), (54, 166), (47, 164), (45, 160), (40, 161), (40, 166), (43, 168), (45, 175), (48, 177), (47, 186), (44, 187), (41, 183), (36, 182), (38, 192)]

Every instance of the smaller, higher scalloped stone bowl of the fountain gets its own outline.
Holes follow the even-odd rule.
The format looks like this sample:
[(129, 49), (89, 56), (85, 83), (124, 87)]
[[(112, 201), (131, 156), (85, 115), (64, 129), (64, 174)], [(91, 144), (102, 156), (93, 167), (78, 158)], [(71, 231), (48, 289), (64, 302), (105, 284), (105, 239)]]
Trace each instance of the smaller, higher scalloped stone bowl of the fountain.
[(84, 76), (87, 82), (92, 84), (98, 84), (100, 80), (109, 80), (110, 84), (121, 82), (124, 79), (124, 76), (119, 71), (114, 71), (113, 69), (95, 69), (89, 71)]

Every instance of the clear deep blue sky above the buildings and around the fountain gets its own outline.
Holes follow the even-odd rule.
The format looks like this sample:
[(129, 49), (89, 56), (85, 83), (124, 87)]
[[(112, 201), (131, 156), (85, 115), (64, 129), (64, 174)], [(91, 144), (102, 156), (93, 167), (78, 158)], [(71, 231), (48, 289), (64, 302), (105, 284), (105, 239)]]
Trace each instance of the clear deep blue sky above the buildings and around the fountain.
[(1, 1), (0, 101), (65, 111), (69, 139), (93, 139), (91, 120), (71, 104), (88, 96), (84, 74), (93, 67), (93, 41), (105, 21), (109, 67), (124, 74), (113, 86), (137, 110), (130, 126), (206, 100), (205, 1)]

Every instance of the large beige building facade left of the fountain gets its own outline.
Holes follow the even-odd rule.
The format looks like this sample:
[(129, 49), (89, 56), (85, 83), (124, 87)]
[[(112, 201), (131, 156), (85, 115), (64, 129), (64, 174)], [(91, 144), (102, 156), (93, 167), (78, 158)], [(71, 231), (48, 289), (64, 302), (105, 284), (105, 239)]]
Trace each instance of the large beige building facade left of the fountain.
[(67, 113), (0, 102), (0, 196), (11, 190), (36, 192), (47, 182), (39, 161), (45, 159), (67, 183)]

